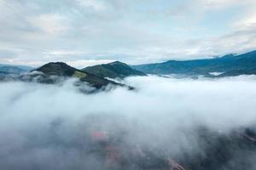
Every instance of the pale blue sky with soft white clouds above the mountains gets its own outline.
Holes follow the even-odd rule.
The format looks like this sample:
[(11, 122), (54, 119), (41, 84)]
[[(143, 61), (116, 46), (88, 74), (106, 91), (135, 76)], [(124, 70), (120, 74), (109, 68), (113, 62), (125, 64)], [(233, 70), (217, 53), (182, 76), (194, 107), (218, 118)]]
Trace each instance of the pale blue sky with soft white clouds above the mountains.
[(256, 49), (255, 0), (0, 0), (0, 63), (83, 68)]

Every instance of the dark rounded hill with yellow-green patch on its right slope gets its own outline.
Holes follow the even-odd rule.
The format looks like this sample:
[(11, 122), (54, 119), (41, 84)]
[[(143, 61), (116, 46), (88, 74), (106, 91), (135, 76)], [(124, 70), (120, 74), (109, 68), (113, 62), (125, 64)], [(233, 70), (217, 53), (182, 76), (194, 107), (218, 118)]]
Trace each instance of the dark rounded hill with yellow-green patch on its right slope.
[(67, 65), (62, 62), (50, 62), (39, 67), (36, 70), (31, 71), (28, 74), (22, 75), (20, 77), (21, 80), (32, 81), (36, 80), (37, 82), (44, 83), (55, 83), (61, 81), (66, 77), (76, 77), (79, 78), (80, 82), (87, 82), (90, 86), (94, 88), (102, 88), (107, 86), (108, 84), (113, 85), (121, 85), (119, 83), (109, 81), (102, 77), (97, 77), (86, 71), (79, 71), (72, 66)]

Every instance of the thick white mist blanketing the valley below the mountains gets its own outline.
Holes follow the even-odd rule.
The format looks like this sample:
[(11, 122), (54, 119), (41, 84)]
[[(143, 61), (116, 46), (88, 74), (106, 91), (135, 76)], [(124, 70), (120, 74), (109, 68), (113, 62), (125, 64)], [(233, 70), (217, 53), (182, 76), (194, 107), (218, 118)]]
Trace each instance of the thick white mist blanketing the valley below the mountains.
[[(165, 157), (183, 165), (189, 156), (205, 154), (209, 142), (201, 132), (210, 133), (212, 141), (256, 122), (255, 76), (149, 76), (122, 82), (136, 90), (83, 94), (73, 80), (0, 83), (0, 168), (149, 169), (131, 158), (137, 155), (150, 155), (151, 163)], [(107, 150), (108, 141), (111, 147), (102, 153), (99, 148)], [(236, 167), (239, 156), (222, 169)], [(252, 167), (255, 152), (242, 156)], [(125, 161), (115, 162), (120, 159)]]

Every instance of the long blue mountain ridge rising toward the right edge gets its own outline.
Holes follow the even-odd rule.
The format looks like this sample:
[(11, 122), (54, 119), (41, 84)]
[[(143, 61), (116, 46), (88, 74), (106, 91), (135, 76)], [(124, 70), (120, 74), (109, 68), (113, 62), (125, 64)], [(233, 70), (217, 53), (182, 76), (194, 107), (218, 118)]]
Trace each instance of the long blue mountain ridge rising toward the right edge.
[(132, 67), (148, 74), (207, 76), (211, 76), (212, 72), (223, 74), (222, 76), (256, 74), (256, 51), (239, 55), (228, 54), (214, 59), (169, 60), (164, 63), (134, 65)]

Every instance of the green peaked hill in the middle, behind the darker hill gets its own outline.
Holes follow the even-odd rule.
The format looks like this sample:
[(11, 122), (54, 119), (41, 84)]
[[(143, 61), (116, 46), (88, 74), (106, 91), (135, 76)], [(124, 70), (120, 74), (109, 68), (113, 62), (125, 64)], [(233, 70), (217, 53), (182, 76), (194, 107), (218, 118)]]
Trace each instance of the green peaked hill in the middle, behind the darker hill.
[(137, 71), (125, 63), (114, 61), (104, 65), (85, 67), (82, 71), (90, 72), (98, 77), (125, 78), (130, 76), (146, 76), (143, 71)]

